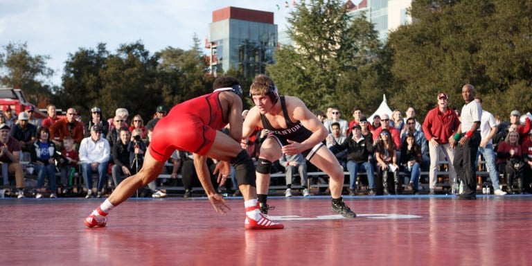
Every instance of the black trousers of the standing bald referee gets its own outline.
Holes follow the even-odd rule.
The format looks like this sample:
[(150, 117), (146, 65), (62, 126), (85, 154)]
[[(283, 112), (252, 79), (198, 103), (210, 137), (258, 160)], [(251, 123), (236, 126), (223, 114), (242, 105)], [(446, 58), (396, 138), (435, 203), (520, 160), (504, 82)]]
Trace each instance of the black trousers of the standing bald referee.
[[(462, 134), (463, 136), (463, 134)], [(465, 145), (456, 145), (454, 161), (452, 165), (456, 170), (456, 176), (463, 181), (463, 194), (477, 194), (477, 179), (475, 178), (475, 160), (480, 145), (480, 132), (475, 132)]]

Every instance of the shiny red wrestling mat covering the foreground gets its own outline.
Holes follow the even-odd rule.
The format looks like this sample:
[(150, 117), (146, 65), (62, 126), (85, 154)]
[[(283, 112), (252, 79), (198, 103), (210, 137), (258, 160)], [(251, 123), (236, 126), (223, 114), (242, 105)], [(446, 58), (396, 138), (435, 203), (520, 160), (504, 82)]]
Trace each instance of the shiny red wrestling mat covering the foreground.
[(283, 230), (246, 231), (207, 199), (129, 199), (105, 228), (83, 218), (100, 199), (1, 199), (3, 265), (527, 265), (532, 196), (272, 197)]

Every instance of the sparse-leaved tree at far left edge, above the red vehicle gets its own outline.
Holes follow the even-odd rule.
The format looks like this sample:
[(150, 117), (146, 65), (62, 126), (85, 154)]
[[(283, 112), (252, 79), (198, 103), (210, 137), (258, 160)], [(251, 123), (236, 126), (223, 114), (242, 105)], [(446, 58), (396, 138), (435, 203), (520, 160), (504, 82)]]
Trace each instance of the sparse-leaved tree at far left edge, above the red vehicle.
[(35, 104), (50, 97), (50, 87), (42, 80), (53, 76), (53, 70), (46, 67), (50, 56), (31, 55), (26, 43), (10, 42), (3, 48), (6, 53), (0, 53), (0, 70), (6, 74), (0, 76), (1, 85), (23, 89), (28, 101)]

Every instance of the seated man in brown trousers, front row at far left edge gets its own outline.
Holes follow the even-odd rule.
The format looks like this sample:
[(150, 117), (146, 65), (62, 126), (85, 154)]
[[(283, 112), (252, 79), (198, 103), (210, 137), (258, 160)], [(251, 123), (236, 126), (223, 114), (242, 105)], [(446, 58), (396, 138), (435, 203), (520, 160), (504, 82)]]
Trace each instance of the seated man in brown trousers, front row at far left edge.
[[(6, 123), (0, 124), (0, 162), (7, 163), (8, 173), (15, 174), (17, 197), (24, 197), (24, 172), (20, 164), (20, 143), (9, 134), (10, 127)], [(4, 184), (7, 177), (4, 176)]]

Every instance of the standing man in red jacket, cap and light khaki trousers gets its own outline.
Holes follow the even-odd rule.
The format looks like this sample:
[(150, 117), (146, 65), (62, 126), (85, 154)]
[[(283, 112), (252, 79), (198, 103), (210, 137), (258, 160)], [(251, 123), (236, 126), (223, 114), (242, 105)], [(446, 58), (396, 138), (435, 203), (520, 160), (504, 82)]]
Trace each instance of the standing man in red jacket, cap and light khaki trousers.
[(440, 154), (444, 154), (449, 165), (449, 181), (454, 185), (456, 181), (456, 170), (452, 166), (454, 160), (454, 149), (449, 143), (449, 139), (458, 130), (460, 121), (456, 112), (447, 107), (449, 104), (449, 97), (447, 94), (438, 94), (438, 106), (430, 110), (423, 121), (423, 134), (429, 142), (429, 189), (430, 195), (434, 195), (434, 187), (436, 186), (436, 170), (438, 168), (438, 161), (443, 160)]

